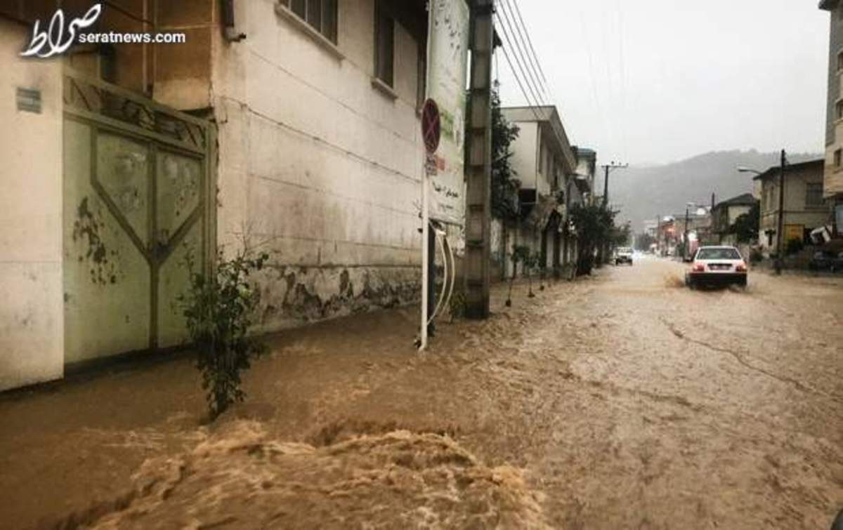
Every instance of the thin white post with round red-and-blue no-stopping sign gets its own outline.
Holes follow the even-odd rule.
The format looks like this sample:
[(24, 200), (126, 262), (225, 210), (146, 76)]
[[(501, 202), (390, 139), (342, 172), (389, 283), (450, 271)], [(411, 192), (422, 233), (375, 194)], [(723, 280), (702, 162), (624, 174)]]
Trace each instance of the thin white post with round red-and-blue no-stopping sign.
[[(419, 350), (427, 348), (427, 325), (430, 319), (430, 185), (427, 181), (435, 174), (436, 164), (431, 164), (439, 147), (442, 123), (439, 117), (439, 107), (432, 99), (425, 101), (421, 110), (421, 134), (427, 152), (425, 169), (421, 177), (421, 345)], [(432, 168), (431, 168), (432, 166)]]

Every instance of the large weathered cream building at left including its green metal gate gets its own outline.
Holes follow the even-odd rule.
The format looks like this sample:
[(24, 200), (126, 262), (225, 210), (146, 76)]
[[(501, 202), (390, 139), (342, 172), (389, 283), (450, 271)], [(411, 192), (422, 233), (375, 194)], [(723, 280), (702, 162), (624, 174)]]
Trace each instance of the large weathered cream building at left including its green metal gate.
[[(189, 254), (271, 254), (264, 331), (418, 297), (427, 3), (105, 3), (95, 31), (186, 42), (19, 57), (36, 19), (87, 4), (0, 5), (0, 390), (182, 344)], [(446, 117), (462, 153), (464, 116)], [(437, 166), (432, 216), (459, 260), (461, 154)]]

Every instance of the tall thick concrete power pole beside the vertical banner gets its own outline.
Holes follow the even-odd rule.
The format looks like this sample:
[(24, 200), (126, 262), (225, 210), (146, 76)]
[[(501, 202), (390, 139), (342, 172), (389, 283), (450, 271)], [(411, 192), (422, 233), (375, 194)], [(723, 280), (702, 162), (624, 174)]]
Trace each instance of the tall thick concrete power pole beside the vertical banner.
[(489, 316), (491, 283), (491, 59), (494, 0), (471, 1), (471, 80), (466, 151), (465, 316)]

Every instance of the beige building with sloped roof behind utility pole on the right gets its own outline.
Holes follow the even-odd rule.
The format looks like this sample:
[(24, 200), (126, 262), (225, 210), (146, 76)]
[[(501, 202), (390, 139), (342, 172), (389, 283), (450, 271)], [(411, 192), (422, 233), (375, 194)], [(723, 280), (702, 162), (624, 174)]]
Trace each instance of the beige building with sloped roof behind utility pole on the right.
[[(780, 171), (776, 166), (755, 177), (761, 183), (759, 243), (765, 253), (778, 251)], [(823, 171), (822, 159), (787, 166), (782, 244), (792, 239), (808, 243), (813, 229), (829, 222), (829, 207), (823, 199)]]

